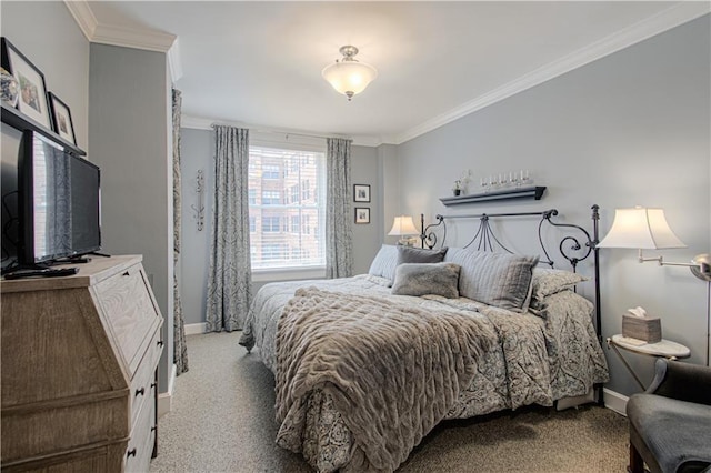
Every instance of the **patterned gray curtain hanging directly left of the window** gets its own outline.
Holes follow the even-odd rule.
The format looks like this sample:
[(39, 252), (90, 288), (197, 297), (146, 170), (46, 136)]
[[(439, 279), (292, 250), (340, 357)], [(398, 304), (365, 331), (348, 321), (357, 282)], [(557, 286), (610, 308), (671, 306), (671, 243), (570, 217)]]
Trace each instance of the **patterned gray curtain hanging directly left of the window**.
[(252, 300), (249, 253), (249, 130), (213, 125), (216, 138), (208, 332), (244, 323)]

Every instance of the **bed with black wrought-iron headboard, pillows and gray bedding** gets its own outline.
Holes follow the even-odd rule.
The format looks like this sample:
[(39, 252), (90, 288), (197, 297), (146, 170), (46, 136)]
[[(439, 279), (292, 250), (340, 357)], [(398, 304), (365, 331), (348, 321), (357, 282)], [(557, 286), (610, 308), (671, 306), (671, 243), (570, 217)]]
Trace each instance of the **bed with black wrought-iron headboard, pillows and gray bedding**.
[[(382, 245), (368, 274), (262, 286), (240, 344), (274, 373), (277, 443), (319, 472), (394, 471), (442, 420), (591, 399), (609, 374), (574, 270), (592, 254), (597, 275), (597, 208), (593, 238), (557, 214), (500, 215), (540, 215), (541, 256), (503, 246), (499, 215), (438, 215), (428, 249)], [(448, 219), (471, 217), (475, 236), (447, 248)], [(560, 240), (572, 271), (552, 268), (545, 224), (582, 231)]]

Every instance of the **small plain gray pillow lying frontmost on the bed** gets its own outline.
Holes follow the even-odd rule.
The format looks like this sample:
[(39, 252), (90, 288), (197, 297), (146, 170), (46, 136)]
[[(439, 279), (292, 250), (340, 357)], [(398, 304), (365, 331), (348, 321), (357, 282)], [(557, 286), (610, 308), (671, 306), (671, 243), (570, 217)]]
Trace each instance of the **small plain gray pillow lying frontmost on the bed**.
[(392, 293), (398, 295), (435, 294), (459, 298), (459, 265), (452, 263), (402, 263), (395, 269)]

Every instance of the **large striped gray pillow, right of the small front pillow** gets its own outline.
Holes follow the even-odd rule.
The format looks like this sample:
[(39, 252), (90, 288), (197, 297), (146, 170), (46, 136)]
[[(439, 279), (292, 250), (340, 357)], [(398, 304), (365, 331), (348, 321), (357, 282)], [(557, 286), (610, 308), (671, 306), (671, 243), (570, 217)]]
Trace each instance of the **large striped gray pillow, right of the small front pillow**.
[(444, 262), (461, 266), (460, 295), (513, 312), (528, 310), (538, 256), (450, 248)]

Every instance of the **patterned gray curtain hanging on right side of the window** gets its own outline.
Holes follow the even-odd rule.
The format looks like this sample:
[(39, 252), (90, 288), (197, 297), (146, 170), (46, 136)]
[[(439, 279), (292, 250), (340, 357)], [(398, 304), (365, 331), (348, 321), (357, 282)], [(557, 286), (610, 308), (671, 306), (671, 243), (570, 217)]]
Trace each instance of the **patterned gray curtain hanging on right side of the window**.
[(348, 278), (353, 273), (351, 140), (328, 138), (326, 144), (326, 276)]

